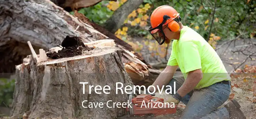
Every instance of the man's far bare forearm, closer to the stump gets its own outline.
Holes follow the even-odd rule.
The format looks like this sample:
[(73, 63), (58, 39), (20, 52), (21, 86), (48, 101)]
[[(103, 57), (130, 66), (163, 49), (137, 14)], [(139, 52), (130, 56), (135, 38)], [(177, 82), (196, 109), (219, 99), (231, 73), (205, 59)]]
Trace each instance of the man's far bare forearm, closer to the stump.
[[(156, 81), (152, 84), (152, 86), (157, 87), (157, 85), (159, 86), (159, 88), (161, 89), (162, 86), (166, 85), (167, 83), (170, 82), (170, 80), (172, 79), (175, 71), (177, 69), (177, 66), (172, 66), (169, 69), (165, 69), (163, 70), (157, 77)], [(153, 87), (149, 88), (150, 92), (154, 91)]]

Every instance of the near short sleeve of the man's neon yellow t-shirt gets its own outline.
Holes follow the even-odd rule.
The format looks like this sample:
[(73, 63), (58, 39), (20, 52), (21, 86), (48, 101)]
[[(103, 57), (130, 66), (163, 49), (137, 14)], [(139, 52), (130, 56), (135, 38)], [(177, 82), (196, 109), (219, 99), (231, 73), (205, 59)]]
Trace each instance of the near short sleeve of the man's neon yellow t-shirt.
[(181, 50), (181, 58), (184, 62), (185, 73), (202, 68), (201, 56), (197, 44), (193, 41), (185, 41), (181, 43)]

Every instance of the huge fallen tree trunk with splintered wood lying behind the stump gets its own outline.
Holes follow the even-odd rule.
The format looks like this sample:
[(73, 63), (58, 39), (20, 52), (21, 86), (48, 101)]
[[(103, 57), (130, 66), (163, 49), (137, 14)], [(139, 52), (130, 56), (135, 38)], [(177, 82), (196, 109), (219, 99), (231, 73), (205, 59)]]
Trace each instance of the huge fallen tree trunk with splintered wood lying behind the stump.
[(151, 66), (129, 44), (86, 20), (84, 15), (72, 16), (49, 0), (0, 1), (0, 14), (0, 53), (4, 56), (0, 59), (0, 72), (15, 72), (15, 65), (23, 63), (22, 59), (31, 54), (27, 41), (38, 54), (40, 48), (56, 47), (69, 35), (79, 36), (84, 43), (114, 39), (116, 47), (122, 49), (122, 61), (134, 85), (152, 84), (155, 80), (150, 77)]

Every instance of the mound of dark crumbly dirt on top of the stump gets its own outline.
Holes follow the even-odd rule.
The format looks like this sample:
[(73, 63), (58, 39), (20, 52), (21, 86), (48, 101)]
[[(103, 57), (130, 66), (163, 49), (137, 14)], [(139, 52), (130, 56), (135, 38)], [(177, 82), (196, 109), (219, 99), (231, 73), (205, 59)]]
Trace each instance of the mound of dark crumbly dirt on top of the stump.
[(66, 36), (61, 43), (63, 47), (57, 52), (49, 52), (46, 55), (51, 59), (58, 59), (64, 57), (73, 57), (76, 55), (82, 55), (85, 51), (93, 50), (93, 47), (85, 46), (83, 41), (79, 37)]

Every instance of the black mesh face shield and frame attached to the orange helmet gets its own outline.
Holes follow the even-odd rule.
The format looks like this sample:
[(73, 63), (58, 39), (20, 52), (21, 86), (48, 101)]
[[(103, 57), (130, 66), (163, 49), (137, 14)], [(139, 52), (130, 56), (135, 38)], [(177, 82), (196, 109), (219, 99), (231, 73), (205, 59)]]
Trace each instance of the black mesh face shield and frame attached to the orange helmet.
[[(157, 43), (159, 45), (162, 45), (163, 43), (165, 43), (165, 40), (166, 40), (166, 36), (165, 36), (165, 33), (163, 32), (163, 26), (164, 25), (168, 25), (169, 22), (167, 22), (165, 24), (165, 22), (170, 19), (170, 17), (168, 15), (164, 15), (163, 16), (163, 21), (162, 23), (160, 23), (157, 27), (155, 28), (152, 28), (152, 26), (150, 28), (147, 29), (148, 32), (150, 32), (150, 34), (153, 36), (153, 38), (157, 41)], [(181, 18), (180, 16), (176, 17), (175, 19), (173, 19), (174, 21), (178, 22), (181, 21)], [(168, 27), (167, 27), (168, 28)], [(169, 29), (169, 28), (168, 28)], [(169, 29), (170, 30), (170, 29)], [(170, 30), (171, 31), (171, 30)], [(161, 36), (159, 35), (159, 33), (161, 34)], [(157, 38), (159, 37), (159, 39)], [(162, 41), (161, 41), (162, 40)]]

